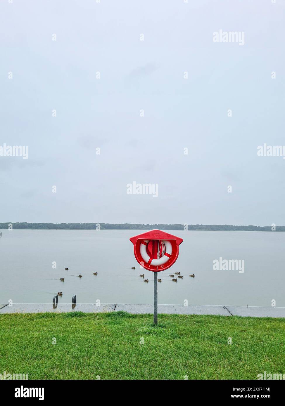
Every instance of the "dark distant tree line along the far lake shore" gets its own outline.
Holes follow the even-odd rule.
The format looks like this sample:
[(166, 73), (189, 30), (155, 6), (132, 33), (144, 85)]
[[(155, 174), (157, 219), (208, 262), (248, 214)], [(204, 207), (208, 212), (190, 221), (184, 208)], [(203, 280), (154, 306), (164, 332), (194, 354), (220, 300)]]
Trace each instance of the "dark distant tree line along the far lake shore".
[[(98, 224), (102, 230), (184, 230), (184, 224), (109, 224), (109, 223), (0, 223), (0, 229), (8, 229), (9, 224), (13, 229), (29, 230), (96, 230)], [(271, 226), (232, 226), (232, 225), (205, 225), (189, 224), (188, 230), (200, 231), (272, 231)], [(276, 226), (276, 231), (285, 231), (285, 226)]]

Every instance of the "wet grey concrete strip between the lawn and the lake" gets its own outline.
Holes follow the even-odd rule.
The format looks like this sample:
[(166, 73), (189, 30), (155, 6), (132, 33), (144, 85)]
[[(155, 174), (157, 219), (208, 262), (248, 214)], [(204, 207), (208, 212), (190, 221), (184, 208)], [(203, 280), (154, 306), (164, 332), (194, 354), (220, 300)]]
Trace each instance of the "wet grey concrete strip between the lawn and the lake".
[[(49, 303), (13, 303), (0, 304), (0, 314), (2, 313), (66, 313), (69, 311), (82, 311), (84, 313), (99, 313), (112, 311), (127, 311), (135, 314), (153, 313), (153, 304), (116, 304), (101, 303), (98, 307), (94, 303), (78, 303), (72, 308), (70, 303), (58, 304), (56, 308)], [(228, 305), (194, 305), (187, 307), (183, 304), (159, 304), (160, 314), (211, 314), (222, 316), (243, 316), (243, 317), (285, 317), (285, 307), (248, 307), (248, 306), (228, 306)]]

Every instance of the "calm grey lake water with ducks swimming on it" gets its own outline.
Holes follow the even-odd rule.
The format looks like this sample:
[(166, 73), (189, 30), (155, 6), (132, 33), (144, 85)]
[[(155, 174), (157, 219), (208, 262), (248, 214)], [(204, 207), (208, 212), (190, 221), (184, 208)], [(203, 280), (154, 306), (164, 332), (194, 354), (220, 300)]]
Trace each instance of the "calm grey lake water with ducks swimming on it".
[[(153, 274), (139, 268), (132, 230), (1, 230), (0, 303), (152, 303)], [(285, 306), (285, 233), (170, 231), (183, 238), (179, 257), (159, 272), (161, 304)], [(213, 260), (244, 259), (244, 273), (213, 270)], [(52, 268), (56, 261), (57, 268)], [(132, 270), (131, 267), (136, 269)], [(69, 268), (65, 271), (64, 268)], [(170, 274), (184, 278), (172, 282)], [(92, 272), (98, 272), (97, 276)], [(139, 274), (145, 273), (149, 283)], [(76, 275), (82, 274), (82, 278)], [(189, 277), (195, 274), (195, 278)], [(59, 281), (64, 277), (65, 281)]]

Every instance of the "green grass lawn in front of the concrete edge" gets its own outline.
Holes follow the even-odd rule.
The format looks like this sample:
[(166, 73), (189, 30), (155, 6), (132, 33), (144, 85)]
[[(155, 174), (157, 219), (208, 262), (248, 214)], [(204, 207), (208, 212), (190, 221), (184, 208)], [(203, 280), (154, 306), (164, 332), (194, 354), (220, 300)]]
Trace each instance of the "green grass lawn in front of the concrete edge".
[(3, 371), (29, 379), (257, 379), (285, 373), (285, 319), (159, 315), (154, 327), (152, 315), (125, 312), (1, 314)]

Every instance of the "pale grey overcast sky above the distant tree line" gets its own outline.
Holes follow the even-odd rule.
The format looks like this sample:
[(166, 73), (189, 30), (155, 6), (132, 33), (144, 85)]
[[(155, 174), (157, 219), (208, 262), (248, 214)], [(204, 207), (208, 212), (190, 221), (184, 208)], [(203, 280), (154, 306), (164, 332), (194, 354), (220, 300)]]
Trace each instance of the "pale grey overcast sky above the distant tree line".
[(284, 8), (3, 0), (0, 145), (28, 159), (0, 156), (0, 222), (285, 225), (285, 160), (257, 156), (285, 145)]

